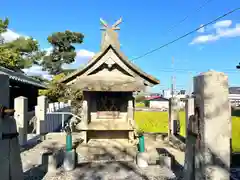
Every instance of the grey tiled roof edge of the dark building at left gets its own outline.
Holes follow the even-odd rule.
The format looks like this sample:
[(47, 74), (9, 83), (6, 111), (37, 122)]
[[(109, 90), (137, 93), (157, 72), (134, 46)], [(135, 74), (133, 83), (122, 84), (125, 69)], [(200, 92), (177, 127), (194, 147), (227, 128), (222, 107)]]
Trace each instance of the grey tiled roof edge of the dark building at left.
[(9, 76), (10, 79), (14, 81), (18, 81), (21, 83), (31, 84), (33, 86), (39, 87), (39, 88), (46, 88), (46, 85), (41, 83), (38, 80), (35, 80), (31, 77), (28, 77), (26, 74), (22, 72), (16, 72), (7, 68), (4, 68), (0, 66), (0, 74), (6, 74)]

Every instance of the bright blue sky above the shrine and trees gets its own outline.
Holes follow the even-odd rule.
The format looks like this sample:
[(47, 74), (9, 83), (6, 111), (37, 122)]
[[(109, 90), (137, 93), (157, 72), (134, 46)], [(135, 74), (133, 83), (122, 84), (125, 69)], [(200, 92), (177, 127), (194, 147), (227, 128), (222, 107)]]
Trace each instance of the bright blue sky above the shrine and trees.
[[(113, 3), (110, 0), (3, 0), (0, 18), (9, 17), (11, 32), (32, 36), (40, 42), (42, 48), (50, 47), (47, 36), (53, 32), (82, 32), (85, 35), (84, 43), (77, 47), (78, 51), (82, 52), (79, 53), (81, 56), (99, 51), (100, 17), (109, 24), (122, 17), (123, 23), (119, 32), (122, 51), (132, 59), (240, 7), (239, 0), (212, 0), (196, 12), (205, 1), (122, 0)], [(186, 15), (190, 17), (168, 32)], [(161, 81), (161, 85), (153, 88), (153, 91), (170, 87), (173, 57), (178, 89), (188, 88), (191, 77), (189, 71), (192, 75), (197, 75), (209, 69), (226, 72), (230, 85), (240, 86), (240, 72), (235, 69), (240, 62), (240, 11), (222, 20), (134, 61)], [(72, 66), (79, 66), (85, 59), (86, 57), (77, 58), (77, 62)]]

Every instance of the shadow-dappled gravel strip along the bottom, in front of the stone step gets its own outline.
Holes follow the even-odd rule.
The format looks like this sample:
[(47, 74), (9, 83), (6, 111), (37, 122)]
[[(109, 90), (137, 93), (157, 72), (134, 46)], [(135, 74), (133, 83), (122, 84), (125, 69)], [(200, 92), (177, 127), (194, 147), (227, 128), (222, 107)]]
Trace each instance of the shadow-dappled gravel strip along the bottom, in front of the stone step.
[(174, 174), (167, 168), (149, 166), (144, 170), (136, 167), (134, 163), (84, 163), (71, 172), (59, 170), (54, 174), (47, 174), (44, 180), (151, 180), (174, 179)]

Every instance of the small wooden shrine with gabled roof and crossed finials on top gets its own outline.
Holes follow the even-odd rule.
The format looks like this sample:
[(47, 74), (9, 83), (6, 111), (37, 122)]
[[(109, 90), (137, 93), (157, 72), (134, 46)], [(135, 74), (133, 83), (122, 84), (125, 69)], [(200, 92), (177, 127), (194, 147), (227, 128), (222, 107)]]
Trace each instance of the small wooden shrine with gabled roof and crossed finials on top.
[(159, 84), (120, 51), (118, 25), (100, 19), (101, 51), (88, 64), (61, 82), (83, 90), (83, 121), (78, 126), (85, 141), (91, 138), (133, 139), (133, 92)]

